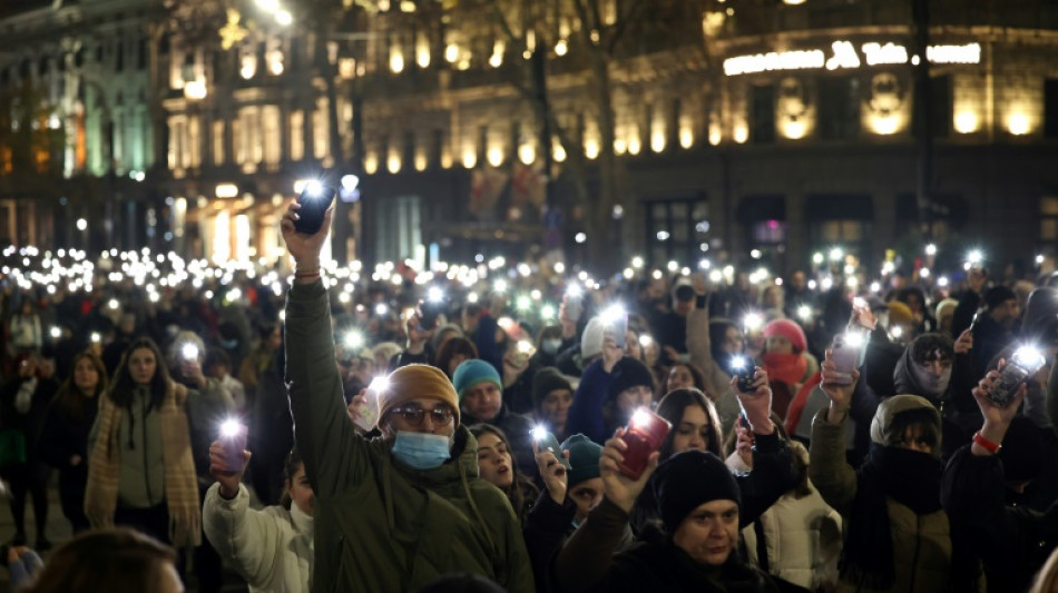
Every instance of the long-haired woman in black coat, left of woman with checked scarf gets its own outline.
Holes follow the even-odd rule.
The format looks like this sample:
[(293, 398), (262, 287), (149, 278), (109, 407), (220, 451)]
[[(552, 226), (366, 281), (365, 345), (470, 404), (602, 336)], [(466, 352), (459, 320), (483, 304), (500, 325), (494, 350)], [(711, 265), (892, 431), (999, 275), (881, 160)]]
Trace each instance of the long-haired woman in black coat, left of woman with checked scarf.
[(88, 482), (88, 433), (96, 421), (99, 395), (107, 391), (102, 360), (85, 350), (48, 408), (40, 438), (40, 456), (59, 471), (59, 501), (74, 533), (88, 530), (85, 484)]

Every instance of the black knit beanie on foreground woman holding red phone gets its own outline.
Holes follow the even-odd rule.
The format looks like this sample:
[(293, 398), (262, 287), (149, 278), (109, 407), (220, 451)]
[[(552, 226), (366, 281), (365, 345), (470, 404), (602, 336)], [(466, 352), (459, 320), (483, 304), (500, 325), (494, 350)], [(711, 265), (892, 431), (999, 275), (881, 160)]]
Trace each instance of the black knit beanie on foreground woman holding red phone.
[(659, 465), (654, 494), (669, 536), (692, 511), (707, 502), (735, 501), (742, 507), (735, 476), (719, 457), (705, 451), (677, 453)]

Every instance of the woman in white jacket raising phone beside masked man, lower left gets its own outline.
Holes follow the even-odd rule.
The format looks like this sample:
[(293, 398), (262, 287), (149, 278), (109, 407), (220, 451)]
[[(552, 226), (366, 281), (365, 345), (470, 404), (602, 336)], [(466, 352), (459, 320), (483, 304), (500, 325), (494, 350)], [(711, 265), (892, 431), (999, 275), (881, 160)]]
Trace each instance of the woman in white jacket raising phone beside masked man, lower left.
[[(249, 452), (243, 452), (243, 471)], [(249, 508), (243, 472), (227, 472), (224, 446), (209, 447), (209, 473), (217, 478), (206, 493), (202, 518), (206, 537), (246, 579), (252, 593), (307, 592), (312, 587), (312, 486), (297, 449), (286, 462), (285, 504)]]

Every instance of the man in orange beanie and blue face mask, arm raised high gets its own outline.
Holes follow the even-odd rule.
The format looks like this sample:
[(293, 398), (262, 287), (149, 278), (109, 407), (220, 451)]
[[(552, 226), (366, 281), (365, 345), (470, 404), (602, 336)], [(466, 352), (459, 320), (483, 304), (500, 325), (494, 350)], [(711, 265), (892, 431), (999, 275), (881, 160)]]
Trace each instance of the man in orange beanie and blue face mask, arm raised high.
[[(518, 520), (507, 497), (478, 477), (478, 443), (440, 369), (408, 365), (380, 394), (379, 429), (365, 439), (345, 412), (334, 364), (319, 233), (281, 228), (295, 261), (286, 305), (286, 378), (298, 451), (315, 494), (313, 591), (409, 591), (452, 572), (535, 591)], [(357, 396), (360, 397), (360, 396)], [(527, 427), (528, 433), (528, 427)]]

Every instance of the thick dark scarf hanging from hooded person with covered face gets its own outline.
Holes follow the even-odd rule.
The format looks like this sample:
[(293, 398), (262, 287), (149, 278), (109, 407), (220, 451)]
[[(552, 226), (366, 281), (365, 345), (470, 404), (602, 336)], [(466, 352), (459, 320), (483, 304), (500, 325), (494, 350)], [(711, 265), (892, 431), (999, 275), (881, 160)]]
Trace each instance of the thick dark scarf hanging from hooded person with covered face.
[(845, 534), (841, 576), (874, 590), (895, 580), (893, 540), (885, 500), (892, 497), (917, 515), (941, 510), (944, 465), (932, 455), (876, 443), (856, 475), (856, 497)]

